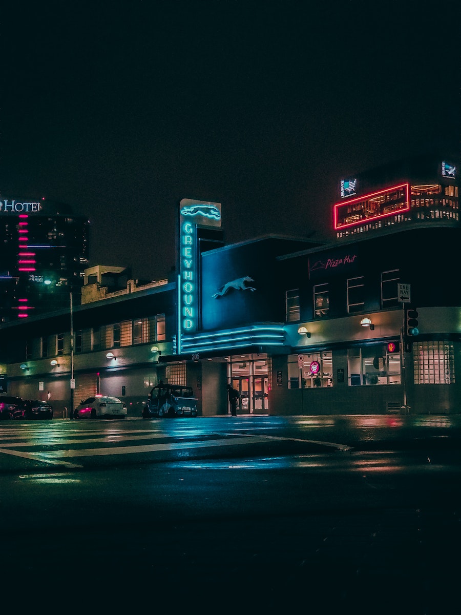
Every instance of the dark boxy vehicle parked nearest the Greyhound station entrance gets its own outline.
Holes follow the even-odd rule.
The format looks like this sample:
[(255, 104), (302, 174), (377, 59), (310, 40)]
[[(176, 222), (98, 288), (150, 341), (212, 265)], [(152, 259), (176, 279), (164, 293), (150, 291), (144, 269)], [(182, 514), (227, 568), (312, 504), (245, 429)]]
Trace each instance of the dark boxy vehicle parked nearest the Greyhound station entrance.
[(143, 418), (152, 416), (197, 416), (197, 398), (190, 386), (157, 384), (148, 395)]

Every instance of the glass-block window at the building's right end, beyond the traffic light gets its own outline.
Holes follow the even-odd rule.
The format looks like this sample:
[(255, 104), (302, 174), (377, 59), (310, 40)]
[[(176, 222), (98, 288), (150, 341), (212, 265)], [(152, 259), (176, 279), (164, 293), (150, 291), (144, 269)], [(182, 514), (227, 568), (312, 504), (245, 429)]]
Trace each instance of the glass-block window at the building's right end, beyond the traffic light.
[(454, 384), (454, 350), (451, 342), (413, 342), (415, 384)]

